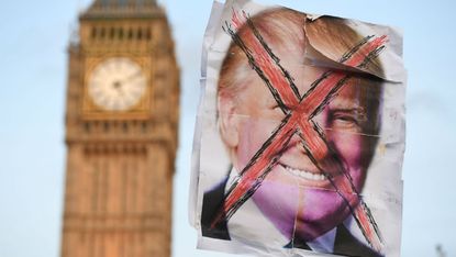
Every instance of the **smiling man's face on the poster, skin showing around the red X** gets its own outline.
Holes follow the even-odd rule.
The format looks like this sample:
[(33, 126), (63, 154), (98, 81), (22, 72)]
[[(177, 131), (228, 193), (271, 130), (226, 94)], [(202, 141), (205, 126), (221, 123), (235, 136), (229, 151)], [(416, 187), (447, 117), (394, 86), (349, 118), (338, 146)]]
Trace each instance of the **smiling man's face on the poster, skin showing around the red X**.
[[(304, 94), (310, 85), (325, 70), (282, 60), (300, 91)], [(359, 80), (349, 80), (313, 121), (323, 128), (329, 145), (336, 152), (345, 169), (360, 191), (367, 166), (363, 161), (372, 149), (365, 149), (369, 136), (365, 135), (368, 107)], [(236, 136), (231, 145), (233, 165), (240, 171), (248, 164), (262, 145), (271, 136), (285, 118), (273, 94), (263, 80), (252, 74), (252, 81), (236, 96), (233, 116), (227, 130)], [(222, 119), (223, 115), (221, 114)], [(326, 156), (325, 158), (330, 158)], [(289, 239), (299, 236), (311, 241), (330, 231), (349, 214), (344, 200), (323, 172), (343, 179), (340, 170), (319, 170), (294, 135), (283, 149), (278, 164), (253, 195), (259, 210)], [(347, 199), (352, 206), (358, 203), (356, 195)], [(294, 235), (297, 234), (297, 235)]]

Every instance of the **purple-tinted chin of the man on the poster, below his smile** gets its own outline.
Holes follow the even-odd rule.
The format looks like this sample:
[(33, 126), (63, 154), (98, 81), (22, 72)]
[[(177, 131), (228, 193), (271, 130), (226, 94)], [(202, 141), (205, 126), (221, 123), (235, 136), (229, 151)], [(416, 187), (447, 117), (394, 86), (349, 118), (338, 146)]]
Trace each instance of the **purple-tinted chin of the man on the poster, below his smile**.
[(336, 191), (278, 186), (265, 182), (253, 199), (263, 214), (289, 239), (313, 241), (349, 215), (349, 208)]

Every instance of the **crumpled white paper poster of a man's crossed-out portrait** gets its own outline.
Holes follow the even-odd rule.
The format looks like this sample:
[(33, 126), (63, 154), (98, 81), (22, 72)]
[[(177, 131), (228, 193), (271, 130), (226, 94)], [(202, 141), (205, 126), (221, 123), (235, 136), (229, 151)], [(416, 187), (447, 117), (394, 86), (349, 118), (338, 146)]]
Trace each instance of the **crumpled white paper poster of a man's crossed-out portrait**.
[(400, 255), (400, 32), (214, 2), (201, 67), (189, 202), (199, 248)]

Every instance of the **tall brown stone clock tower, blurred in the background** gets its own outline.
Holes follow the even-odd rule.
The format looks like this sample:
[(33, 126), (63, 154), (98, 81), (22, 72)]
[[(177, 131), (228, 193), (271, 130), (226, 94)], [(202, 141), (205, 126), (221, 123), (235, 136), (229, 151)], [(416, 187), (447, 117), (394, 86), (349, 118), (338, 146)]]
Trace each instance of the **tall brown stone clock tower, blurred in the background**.
[(170, 256), (179, 69), (164, 10), (96, 0), (68, 54), (62, 256)]

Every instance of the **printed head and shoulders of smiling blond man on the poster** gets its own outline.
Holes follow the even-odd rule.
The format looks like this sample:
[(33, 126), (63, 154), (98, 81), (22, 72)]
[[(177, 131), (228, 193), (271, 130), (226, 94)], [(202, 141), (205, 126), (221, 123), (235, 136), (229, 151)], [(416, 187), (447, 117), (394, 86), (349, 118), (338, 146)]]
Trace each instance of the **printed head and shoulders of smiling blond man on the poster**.
[[(268, 238), (283, 248), (382, 256), (381, 248), (369, 242), (380, 241), (380, 230), (359, 195), (381, 128), (382, 82), (371, 75), (381, 74), (376, 58), (379, 47), (378, 53), (367, 52), (370, 57), (365, 54), (355, 64), (351, 60), (371, 38), (359, 35), (343, 19), (310, 21), (305, 13), (285, 8), (268, 9), (248, 19), (252, 23), (244, 22), (232, 35), (241, 41), (230, 45), (220, 70), (218, 125), (231, 166), (226, 177), (204, 192), (202, 236), (230, 241), (244, 233), (260, 238), (255, 231), (234, 225), (254, 223), (246, 227), (269, 227), (265, 228)], [(273, 66), (279, 64), (281, 76), (289, 76), (294, 85), (288, 99), (274, 85), (267, 64), (255, 58), (255, 53), (248, 55), (253, 52), (248, 48), (252, 35), (277, 57)], [(310, 42), (348, 68), (312, 63)], [(362, 65), (365, 72), (357, 72), (356, 67)], [(332, 90), (319, 98), (319, 90), (331, 76), (341, 79), (334, 79)], [(298, 100), (290, 100), (293, 98)], [(273, 150), (262, 177), (253, 183), (242, 181), (252, 166), (266, 158), (260, 155), (271, 148), (271, 142), (279, 141), (275, 135), (296, 113), (305, 116), (310, 132), (302, 126), (291, 131)], [(255, 185), (236, 202), (248, 205), (248, 213), (241, 206), (230, 209), (229, 214), (227, 194), (242, 183)], [(366, 223), (370, 231), (363, 227)]]

